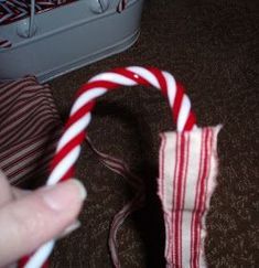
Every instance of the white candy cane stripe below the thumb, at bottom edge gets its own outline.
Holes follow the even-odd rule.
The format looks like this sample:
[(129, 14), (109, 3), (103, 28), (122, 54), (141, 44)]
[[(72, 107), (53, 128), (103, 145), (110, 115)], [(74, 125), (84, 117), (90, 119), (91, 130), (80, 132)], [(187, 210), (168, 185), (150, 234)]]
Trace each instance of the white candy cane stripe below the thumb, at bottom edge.
[(55, 242), (51, 240), (41, 246), (36, 253), (30, 258), (24, 268), (40, 268), (51, 255)]

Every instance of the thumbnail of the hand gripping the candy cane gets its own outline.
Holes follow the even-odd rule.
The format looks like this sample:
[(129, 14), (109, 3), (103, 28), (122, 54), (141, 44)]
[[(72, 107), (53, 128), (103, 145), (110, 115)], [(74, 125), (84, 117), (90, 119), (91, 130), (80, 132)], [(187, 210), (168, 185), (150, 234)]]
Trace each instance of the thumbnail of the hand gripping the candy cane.
[(54, 186), (42, 190), (45, 204), (53, 211), (65, 211), (86, 199), (86, 190), (76, 179), (68, 180)]

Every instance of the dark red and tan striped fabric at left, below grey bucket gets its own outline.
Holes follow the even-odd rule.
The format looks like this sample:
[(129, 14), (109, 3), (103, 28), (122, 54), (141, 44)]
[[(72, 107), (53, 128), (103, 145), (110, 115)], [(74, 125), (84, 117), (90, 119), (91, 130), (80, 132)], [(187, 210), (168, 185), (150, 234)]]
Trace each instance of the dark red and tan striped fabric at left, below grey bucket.
[(46, 176), (61, 129), (47, 85), (32, 76), (0, 83), (0, 169), (11, 184)]

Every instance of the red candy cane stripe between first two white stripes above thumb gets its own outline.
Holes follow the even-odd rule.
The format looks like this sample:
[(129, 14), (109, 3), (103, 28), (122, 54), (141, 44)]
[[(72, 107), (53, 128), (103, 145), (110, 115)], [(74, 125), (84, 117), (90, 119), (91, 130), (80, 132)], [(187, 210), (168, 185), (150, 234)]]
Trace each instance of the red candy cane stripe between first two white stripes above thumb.
[(80, 133), (78, 133), (76, 137), (74, 137), (69, 142), (67, 142), (62, 149), (61, 151), (58, 151), (52, 163), (51, 163), (51, 170), (54, 170), (55, 167), (77, 146), (79, 146), (84, 138), (86, 136), (85, 131), (82, 131)]

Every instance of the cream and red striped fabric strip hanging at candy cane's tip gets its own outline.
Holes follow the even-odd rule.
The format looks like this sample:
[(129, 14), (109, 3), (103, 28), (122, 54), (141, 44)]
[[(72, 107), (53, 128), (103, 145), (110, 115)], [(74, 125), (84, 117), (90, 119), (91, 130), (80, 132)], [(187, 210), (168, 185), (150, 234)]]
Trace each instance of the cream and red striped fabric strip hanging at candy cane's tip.
[(162, 133), (159, 196), (165, 222), (166, 267), (206, 267), (205, 216), (217, 174), (220, 126)]

